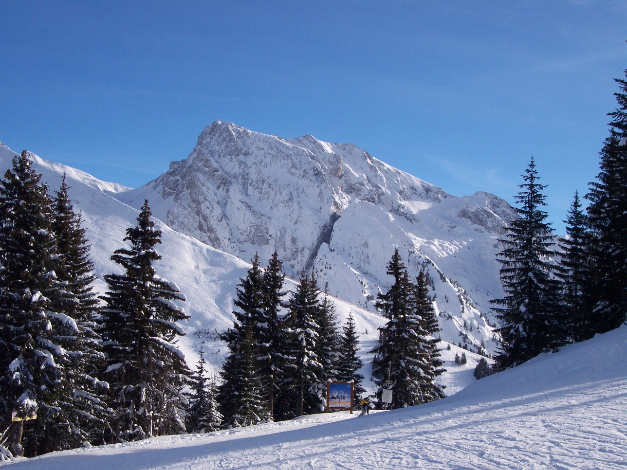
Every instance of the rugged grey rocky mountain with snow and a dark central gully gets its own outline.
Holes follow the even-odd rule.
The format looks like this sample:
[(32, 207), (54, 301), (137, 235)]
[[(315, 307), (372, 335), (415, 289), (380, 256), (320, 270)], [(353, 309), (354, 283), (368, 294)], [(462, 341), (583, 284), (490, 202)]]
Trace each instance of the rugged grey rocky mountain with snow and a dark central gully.
[(289, 276), (314, 269), (338, 298), (375, 311), (394, 249), (427, 268), (443, 339), (495, 348), (488, 301), (502, 295), (496, 238), (515, 212), (492, 194), (455, 197), (353, 144), (286, 139), (214, 122), (185, 160), (112, 194), (240, 259), (276, 249)]

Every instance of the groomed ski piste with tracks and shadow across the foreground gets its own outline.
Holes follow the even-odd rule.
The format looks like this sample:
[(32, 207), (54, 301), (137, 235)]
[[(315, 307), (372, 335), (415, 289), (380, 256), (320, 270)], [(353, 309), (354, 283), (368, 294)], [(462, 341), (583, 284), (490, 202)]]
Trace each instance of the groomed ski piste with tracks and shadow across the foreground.
[(53, 452), (7, 470), (627, 468), (627, 326), (452, 397)]

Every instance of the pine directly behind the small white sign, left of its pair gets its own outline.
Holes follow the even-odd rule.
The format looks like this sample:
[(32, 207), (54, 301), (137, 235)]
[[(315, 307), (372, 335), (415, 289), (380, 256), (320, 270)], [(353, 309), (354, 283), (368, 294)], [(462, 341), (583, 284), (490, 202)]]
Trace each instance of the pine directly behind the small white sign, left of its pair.
[[(372, 379), (378, 387), (376, 397), (381, 402), (386, 380), (393, 382), (392, 408), (418, 405), (422, 399), (422, 369), (428, 333), (414, 311), (415, 287), (401, 262), (398, 249), (387, 264), (387, 274), (394, 283), (385, 294), (379, 294), (377, 308), (386, 313), (386, 325), (379, 328), (379, 346), (370, 351)], [(389, 378), (389, 379), (388, 379)]]

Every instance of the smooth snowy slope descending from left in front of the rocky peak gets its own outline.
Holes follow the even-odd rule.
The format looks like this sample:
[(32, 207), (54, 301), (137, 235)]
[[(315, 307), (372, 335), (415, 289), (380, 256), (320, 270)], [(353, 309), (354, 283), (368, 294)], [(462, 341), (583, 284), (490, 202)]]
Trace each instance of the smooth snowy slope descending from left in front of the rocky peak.
[[(11, 167), (13, 155), (15, 152), (6, 145), (0, 145), (1, 174), (4, 175), (6, 169)], [(82, 214), (83, 223), (87, 227), (87, 238), (92, 246), (91, 257), (98, 276), (95, 290), (104, 293), (106, 285), (102, 276), (107, 273), (121, 273), (120, 267), (109, 258), (115, 249), (126, 244), (122, 241), (126, 229), (137, 224), (139, 211), (110, 196), (115, 190), (127, 188), (102, 182), (80, 170), (30, 155), (34, 170), (43, 175), (42, 181), (48, 184), (51, 191), (60, 187), (61, 177), (66, 174), (70, 187), (68, 193), (75, 210)], [(191, 320), (181, 324), (187, 335), (182, 338), (180, 347), (189, 364), (193, 366), (203, 342), (203, 338), (194, 333), (199, 330), (222, 332), (233, 325), (231, 312), (234, 308), (235, 288), (240, 278), (246, 276), (250, 264), (176, 232), (162, 221), (157, 221), (157, 227), (162, 231), (162, 244), (157, 246), (157, 253), (161, 254), (162, 259), (155, 263), (155, 269), (160, 276), (176, 282), (187, 297), (187, 301), (181, 303), (181, 306), (191, 315)], [(289, 288), (295, 286), (295, 283), (288, 279), (287, 285)], [(370, 348), (376, 341), (376, 328), (384, 321), (381, 316), (344, 301), (337, 300), (335, 305), (342, 322), (349, 311), (353, 311), (358, 333), (362, 337), (362, 347)], [(364, 334), (366, 330), (369, 332), (367, 335)], [(225, 353), (223, 343), (209, 340), (204, 347), (209, 366), (214, 372), (219, 370)], [(367, 362), (369, 360), (367, 358)], [(367, 367), (364, 372), (369, 376)]]

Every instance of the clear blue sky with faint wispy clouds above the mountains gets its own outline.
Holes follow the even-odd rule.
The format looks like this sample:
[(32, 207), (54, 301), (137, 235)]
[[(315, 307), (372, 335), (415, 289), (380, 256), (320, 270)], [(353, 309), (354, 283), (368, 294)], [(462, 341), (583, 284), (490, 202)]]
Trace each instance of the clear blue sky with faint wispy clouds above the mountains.
[(531, 155), (558, 232), (598, 173), (621, 1), (0, 0), (0, 140), (131, 187), (216, 119), (353, 142), (513, 203)]

